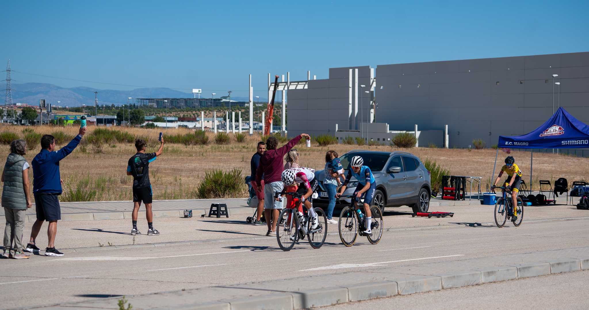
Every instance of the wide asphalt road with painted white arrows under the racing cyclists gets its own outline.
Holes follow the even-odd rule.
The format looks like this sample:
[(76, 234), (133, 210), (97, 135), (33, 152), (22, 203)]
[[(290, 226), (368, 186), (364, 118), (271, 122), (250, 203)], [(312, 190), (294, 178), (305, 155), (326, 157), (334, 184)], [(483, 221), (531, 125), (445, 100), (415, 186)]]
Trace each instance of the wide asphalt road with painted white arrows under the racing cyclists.
[[(252, 283), (252, 287), (268, 293), (273, 292), (273, 288), (264, 286), (269, 280), (289, 282), (310, 275), (344, 273), (353, 276), (358, 272), (378, 271), (384, 266), (421, 274), (419, 270), (411, 270), (415, 262), (455, 262), (505, 253), (587, 246), (589, 212), (570, 206), (530, 207), (522, 226), (508, 225), (502, 229), (487, 223), (492, 221), (492, 206), (439, 209), (456, 212), (456, 216), (412, 218), (398, 212), (409, 209), (396, 210), (385, 213), (388, 231), (378, 245), (370, 245), (359, 237), (356, 245), (346, 248), (340, 243), (336, 227), (330, 226), (329, 232), (334, 234), (327, 237), (322, 248), (312, 249), (303, 242), (290, 252), (280, 250), (276, 238), (264, 237), (264, 226), (243, 225), (243, 216), (158, 220), (155, 227), (163, 235), (137, 236), (135, 243), (216, 240), (150, 248), (104, 246), (99, 250), (67, 253), (62, 258), (5, 259), (0, 262), (0, 307), (55, 305), (210, 286), (216, 286), (219, 298), (223, 298), (226, 297), (223, 288), (237, 283)], [(128, 222), (59, 223), (56, 244), (61, 248), (97, 246), (97, 240), (102, 240), (101, 244), (132, 244), (132, 237), (126, 235), (130, 228)], [(140, 228), (143, 225), (140, 222)], [(39, 238), (39, 247), (42, 246), (44, 240)], [(289, 285), (295, 289), (301, 283), (297, 279)]]

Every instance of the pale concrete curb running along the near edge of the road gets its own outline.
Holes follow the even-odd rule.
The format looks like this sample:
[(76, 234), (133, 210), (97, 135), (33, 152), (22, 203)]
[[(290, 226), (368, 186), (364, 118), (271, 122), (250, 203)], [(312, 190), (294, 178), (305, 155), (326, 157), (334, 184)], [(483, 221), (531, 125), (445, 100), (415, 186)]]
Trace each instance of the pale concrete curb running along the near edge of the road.
[(589, 269), (589, 258), (554, 259), (514, 266), (495, 266), (472, 271), (452, 272), (444, 275), (409, 276), (407, 278), (391, 279), (382, 282), (323, 288), (320, 291), (281, 292), (249, 298), (207, 302), (191, 305), (190, 309), (235, 310), (272, 308), (298, 310), (350, 301), (431, 292), (446, 288), (460, 288), (482, 283), (587, 269)]

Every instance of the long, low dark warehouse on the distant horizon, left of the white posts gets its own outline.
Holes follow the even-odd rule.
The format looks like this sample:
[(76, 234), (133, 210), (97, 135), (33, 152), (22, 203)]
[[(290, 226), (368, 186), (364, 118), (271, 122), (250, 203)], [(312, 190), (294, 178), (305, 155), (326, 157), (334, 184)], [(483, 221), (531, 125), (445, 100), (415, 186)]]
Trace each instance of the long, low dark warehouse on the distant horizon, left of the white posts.
[[(152, 108), (208, 108), (229, 107), (227, 97), (220, 98), (137, 98), (140, 107)], [(248, 107), (246, 101), (231, 100), (231, 106)]]

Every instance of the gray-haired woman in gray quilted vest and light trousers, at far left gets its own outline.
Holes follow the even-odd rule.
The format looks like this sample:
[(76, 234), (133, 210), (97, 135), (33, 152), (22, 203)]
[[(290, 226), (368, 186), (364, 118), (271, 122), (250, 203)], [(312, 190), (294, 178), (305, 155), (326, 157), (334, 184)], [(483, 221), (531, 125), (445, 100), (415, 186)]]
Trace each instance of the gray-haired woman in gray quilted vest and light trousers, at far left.
[[(25, 227), (25, 213), (31, 203), (31, 185), (29, 184), (29, 163), (25, 157), (25, 141), (14, 140), (10, 144), (10, 154), (2, 172), (2, 207), (6, 216), (4, 229), (4, 253), (2, 258), (29, 258), (22, 248), (22, 229)], [(14, 247), (12, 244), (14, 242)], [(14, 252), (11, 252), (11, 248)]]

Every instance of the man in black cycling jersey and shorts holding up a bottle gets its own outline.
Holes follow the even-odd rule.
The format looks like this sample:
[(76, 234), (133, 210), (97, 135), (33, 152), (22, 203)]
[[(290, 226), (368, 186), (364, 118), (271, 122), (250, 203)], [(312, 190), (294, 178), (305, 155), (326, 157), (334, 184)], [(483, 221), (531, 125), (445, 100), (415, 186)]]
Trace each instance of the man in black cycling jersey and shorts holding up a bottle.
[(141, 235), (137, 229), (137, 217), (142, 201), (145, 205), (145, 217), (147, 218), (147, 235), (160, 235), (160, 232), (153, 227), (153, 212), (151, 212), (153, 192), (149, 182), (149, 163), (161, 156), (164, 151), (164, 137), (161, 137), (160, 141), (160, 149), (157, 152), (145, 153), (145, 146), (147, 146), (145, 140), (135, 140), (137, 154), (127, 162), (127, 176), (133, 176), (133, 213), (131, 213), (133, 229), (131, 229), (131, 235)]

